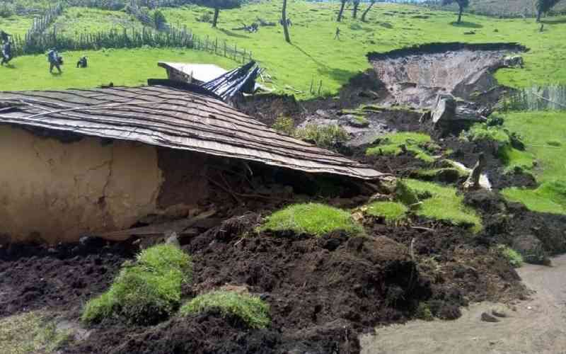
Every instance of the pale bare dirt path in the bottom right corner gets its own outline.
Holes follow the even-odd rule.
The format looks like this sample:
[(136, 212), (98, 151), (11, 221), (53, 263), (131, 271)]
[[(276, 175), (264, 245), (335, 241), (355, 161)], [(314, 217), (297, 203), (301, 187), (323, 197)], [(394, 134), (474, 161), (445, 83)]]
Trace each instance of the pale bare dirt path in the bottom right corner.
[(376, 329), (360, 338), (362, 354), (386, 353), (548, 353), (566, 354), (566, 255), (553, 267), (524, 265), (519, 275), (536, 293), (506, 308), (497, 323), (480, 320), (500, 305), (483, 302), (463, 310), (456, 321), (411, 321)]

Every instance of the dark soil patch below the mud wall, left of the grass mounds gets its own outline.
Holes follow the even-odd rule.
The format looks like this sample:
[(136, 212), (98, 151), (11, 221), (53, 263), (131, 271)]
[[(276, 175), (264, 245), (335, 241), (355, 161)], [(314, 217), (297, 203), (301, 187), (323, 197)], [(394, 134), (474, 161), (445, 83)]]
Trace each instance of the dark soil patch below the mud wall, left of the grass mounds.
[(44, 307), (78, 316), (84, 302), (108, 288), (132, 250), (100, 239), (0, 248), (0, 316)]

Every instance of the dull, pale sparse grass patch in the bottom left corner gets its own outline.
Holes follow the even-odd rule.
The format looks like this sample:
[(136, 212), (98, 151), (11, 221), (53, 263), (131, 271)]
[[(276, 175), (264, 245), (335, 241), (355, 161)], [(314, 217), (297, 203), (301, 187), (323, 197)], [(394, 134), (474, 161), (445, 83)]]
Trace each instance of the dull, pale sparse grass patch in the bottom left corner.
[(25, 312), (0, 319), (0, 348), (4, 354), (56, 353), (69, 339), (42, 312)]

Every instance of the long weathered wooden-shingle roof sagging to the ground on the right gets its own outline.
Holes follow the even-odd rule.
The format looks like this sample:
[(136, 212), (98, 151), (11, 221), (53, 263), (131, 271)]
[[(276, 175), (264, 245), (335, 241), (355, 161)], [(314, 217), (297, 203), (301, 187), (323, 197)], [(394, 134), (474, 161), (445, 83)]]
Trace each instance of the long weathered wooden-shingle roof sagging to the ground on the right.
[(207, 95), (156, 85), (0, 92), (0, 124), (258, 161), (308, 173), (370, 180), (382, 173), (275, 130)]

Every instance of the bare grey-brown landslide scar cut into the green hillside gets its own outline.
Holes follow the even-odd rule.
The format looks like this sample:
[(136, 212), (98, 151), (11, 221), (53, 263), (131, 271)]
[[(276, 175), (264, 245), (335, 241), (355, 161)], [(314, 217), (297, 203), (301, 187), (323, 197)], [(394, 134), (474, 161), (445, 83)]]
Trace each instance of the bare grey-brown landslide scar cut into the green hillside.
[(439, 94), (475, 102), (492, 102), (501, 92), (493, 73), (504, 67), (509, 52), (524, 47), (511, 44), (438, 43), (386, 53), (370, 53), (388, 95), (382, 103), (431, 108)]

